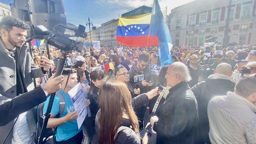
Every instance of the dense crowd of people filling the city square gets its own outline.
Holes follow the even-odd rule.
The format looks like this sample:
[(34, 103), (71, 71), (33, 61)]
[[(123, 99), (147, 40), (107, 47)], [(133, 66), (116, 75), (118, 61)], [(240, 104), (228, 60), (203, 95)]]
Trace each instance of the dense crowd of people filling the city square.
[[(54, 92), (47, 128), (56, 144), (147, 144), (148, 127), (157, 144), (256, 142), (256, 46), (175, 46), (158, 75), (149, 67), (161, 65), (157, 47), (84, 47), (54, 78), (61, 50), (21, 47), (30, 28), (19, 19), (3, 18), (0, 29), (0, 142), (33, 144), (37, 105), (45, 113)], [(87, 107), (80, 129), (68, 94), (78, 83)]]

